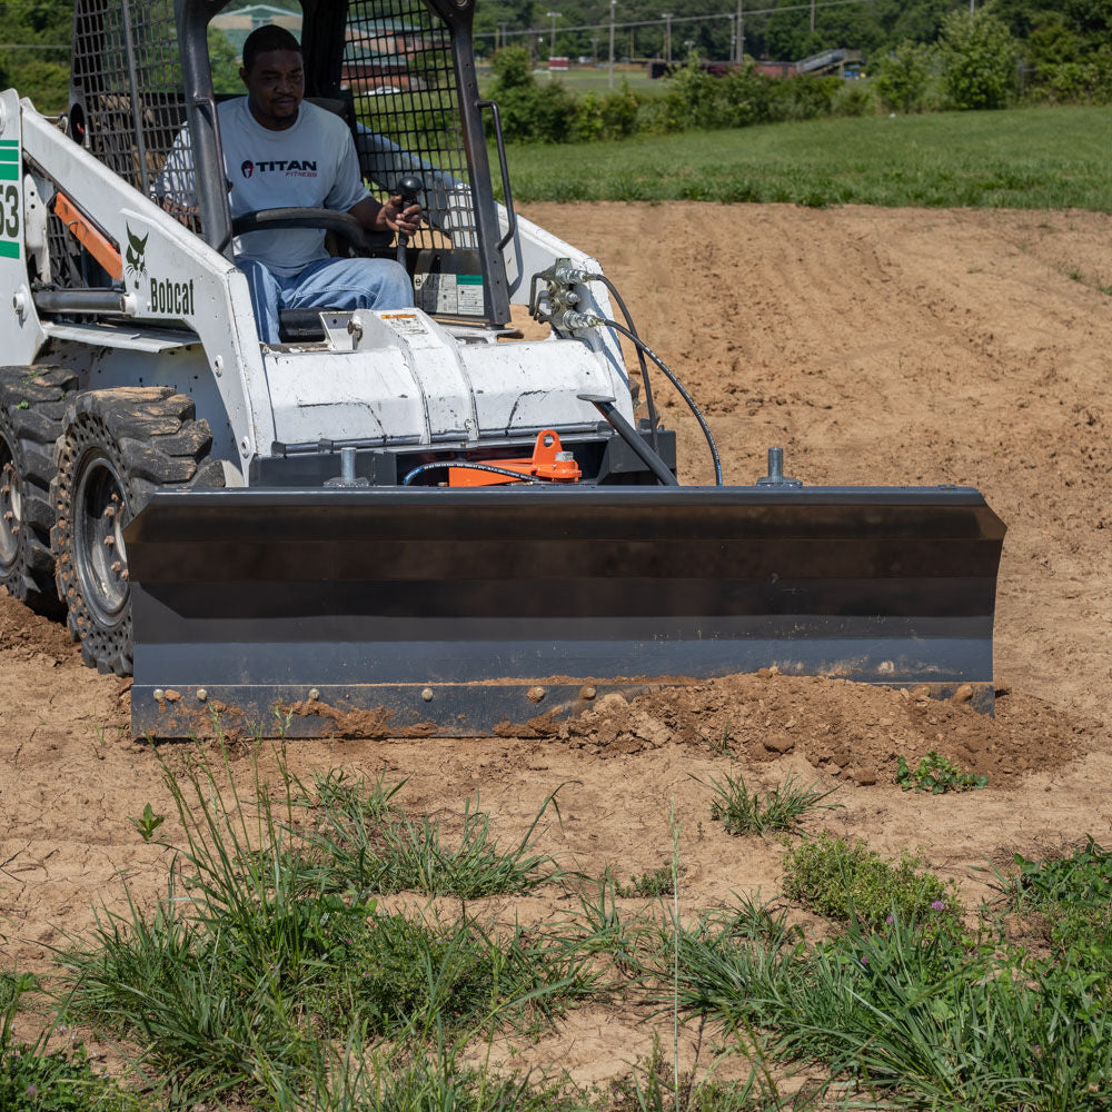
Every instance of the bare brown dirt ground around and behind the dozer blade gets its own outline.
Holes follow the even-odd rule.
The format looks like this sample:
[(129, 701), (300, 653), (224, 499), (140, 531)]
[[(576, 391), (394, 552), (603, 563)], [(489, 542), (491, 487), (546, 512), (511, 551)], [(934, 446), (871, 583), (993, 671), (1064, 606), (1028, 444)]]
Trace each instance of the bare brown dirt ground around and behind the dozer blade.
[[(830, 828), (884, 853), (922, 847), (972, 906), (991, 893), (970, 866), (1085, 833), (1112, 843), (1112, 297), (1100, 289), (1112, 285), (1112, 218), (744, 205), (525, 215), (603, 262), (703, 405), (727, 483), (753, 481), (783, 445), (785, 471), (806, 483), (984, 492), (1009, 527), (997, 717), (840, 682), (737, 677), (604, 706), (554, 738), (298, 743), (295, 768), (385, 765), (409, 777), (400, 800), (415, 811), (458, 813), (480, 793), (507, 838), (563, 784), (564, 822), (543, 847), (623, 878), (669, 860), (674, 798), (687, 910), (777, 891), (781, 846), (709, 822), (705, 782), (725, 772), (753, 786), (790, 771), (841, 782)], [(665, 415), (682, 478), (707, 481), (694, 421), (672, 399)], [(0, 967), (44, 972), (95, 904), (119, 905), (118, 873), (158, 893), (165, 851), (127, 816), (172, 807), (151, 752), (127, 739), (126, 685), (83, 668), (60, 627), (8, 598), (0, 692)], [(727, 729), (733, 765), (707, 744)], [(902, 793), (896, 756), (927, 748), (987, 773), (989, 788)], [(490, 911), (543, 920), (558, 906), (534, 896)], [(514, 1061), (602, 1080), (647, 1053), (642, 1021), (585, 1009)]]

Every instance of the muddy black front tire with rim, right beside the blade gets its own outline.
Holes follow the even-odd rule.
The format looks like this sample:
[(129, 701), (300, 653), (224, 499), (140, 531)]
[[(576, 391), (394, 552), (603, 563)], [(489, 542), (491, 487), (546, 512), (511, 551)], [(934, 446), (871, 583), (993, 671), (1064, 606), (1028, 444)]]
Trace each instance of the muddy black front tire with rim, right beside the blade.
[(130, 675), (131, 592), (123, 527), (158, 487), (224, 486), (212, 434), (169, 387), (79, 394), (66, 413), (50, 487), (58, 594), (81, 658)]

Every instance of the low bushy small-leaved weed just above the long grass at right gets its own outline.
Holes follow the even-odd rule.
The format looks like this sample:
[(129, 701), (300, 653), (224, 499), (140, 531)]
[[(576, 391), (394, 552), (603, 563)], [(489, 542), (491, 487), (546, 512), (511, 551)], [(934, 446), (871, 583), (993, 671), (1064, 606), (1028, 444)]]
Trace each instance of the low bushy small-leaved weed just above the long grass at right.
[(864, 842), (823, 832), (784, 856), (784, 893), (826, 919), (876, 927), (898, 920), (960, 929), (953, 884), (923, 870), (922, 856), (886, 861)]

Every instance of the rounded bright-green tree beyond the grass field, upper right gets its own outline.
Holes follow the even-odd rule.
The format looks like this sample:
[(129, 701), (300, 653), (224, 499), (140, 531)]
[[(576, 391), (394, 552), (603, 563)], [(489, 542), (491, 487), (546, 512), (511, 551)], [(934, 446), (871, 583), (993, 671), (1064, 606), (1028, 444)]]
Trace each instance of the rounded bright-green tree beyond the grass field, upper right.
[(991, 8), (949, 16), (940, 50), (943, 87), (955, 108), (1003, 108), (1012, 98), (1019, 44)]

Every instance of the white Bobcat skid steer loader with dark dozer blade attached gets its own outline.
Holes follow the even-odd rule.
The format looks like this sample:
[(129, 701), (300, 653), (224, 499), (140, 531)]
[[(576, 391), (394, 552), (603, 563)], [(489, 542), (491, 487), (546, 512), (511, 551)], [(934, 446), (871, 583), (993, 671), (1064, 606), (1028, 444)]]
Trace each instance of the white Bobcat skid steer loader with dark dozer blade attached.
[[(753, 486), (677, 484), (619, 336), (675, 377), (602, 267), (515, 215), (475, 0), (302, 0), (307, 96), (420, 200), (405, 245), (232, 220), (224, 7), (77, 0), (66, 115), (0, 95), (0, 583), (133, 668), (136, 735), (512, 732), (771, 667), (991, 707), (1004, 530), (976, 490), (806, 487), (775, 450)], [(261, 227), (397, 255), (416, 308), (287, 312), (261, 344), (235, 264)]]

